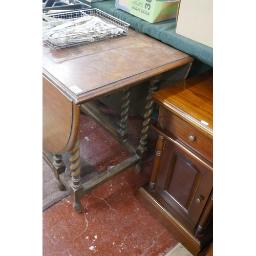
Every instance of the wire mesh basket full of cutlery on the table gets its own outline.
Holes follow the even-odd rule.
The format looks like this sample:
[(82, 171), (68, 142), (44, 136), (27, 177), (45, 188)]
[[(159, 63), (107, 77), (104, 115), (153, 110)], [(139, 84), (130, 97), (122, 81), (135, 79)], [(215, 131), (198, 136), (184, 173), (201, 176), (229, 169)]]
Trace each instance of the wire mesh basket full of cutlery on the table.
[(42, 41), (52, 49), (123, 36), (130, 24), (98, 9), (43, 14)]

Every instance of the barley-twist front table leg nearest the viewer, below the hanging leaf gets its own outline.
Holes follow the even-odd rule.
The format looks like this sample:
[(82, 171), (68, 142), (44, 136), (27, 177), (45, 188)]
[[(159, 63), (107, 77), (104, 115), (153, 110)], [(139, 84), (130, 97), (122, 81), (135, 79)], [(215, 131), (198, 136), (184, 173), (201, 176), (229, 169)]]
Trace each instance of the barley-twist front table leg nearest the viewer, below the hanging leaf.
[(80, 212), (82, 210), (81, 199), (83, 197), (83, 188), (81, 185), (80, 178), (80, 148), (79, 148), (79, 138), (77, 137), (76, 142), (73, 148), (70, 151), (70, 170), (72, 171), (71, 180), (72, 184), (70, 186), (70, 194), (74, 200), (73, 208), (76, 212)]

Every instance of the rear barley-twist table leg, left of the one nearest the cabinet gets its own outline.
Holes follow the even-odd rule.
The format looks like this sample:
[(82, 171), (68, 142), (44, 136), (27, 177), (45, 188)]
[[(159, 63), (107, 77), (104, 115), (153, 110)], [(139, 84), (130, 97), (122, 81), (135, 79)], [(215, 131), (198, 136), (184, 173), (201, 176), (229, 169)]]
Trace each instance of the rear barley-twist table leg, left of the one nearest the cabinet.
[(124, 96), (122, 98), (123, 104), (122, 104), (122, 113), (121, 113), (121, 121), (120, 121), (120, 129), (118, 131), (118, 137), (123, 141), (127, 139), (128, 133), (127, 133), (127, 122), (129, 118), (129, 110), (130, 110), (130, 95), (131, 95), (131, 89), (125, 88), (123, 90)]

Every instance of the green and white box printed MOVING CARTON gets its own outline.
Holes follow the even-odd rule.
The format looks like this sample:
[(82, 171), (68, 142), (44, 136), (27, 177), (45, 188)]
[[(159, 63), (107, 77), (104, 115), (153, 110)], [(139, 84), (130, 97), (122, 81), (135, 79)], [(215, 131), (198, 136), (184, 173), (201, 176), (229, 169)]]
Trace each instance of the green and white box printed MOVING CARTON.
[(116, 0), (116, 8), (146, 22), (157, 23), (176, 18), (179, 0)]

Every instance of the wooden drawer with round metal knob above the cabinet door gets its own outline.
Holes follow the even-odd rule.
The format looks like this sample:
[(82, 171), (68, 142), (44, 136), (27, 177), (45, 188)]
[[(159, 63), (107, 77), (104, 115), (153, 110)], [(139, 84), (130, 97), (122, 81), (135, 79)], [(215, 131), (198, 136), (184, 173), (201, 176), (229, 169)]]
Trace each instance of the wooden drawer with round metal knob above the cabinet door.
[(164, 129), (212, 163), (212, 138), (169, 111)]

